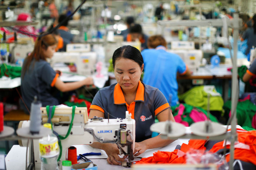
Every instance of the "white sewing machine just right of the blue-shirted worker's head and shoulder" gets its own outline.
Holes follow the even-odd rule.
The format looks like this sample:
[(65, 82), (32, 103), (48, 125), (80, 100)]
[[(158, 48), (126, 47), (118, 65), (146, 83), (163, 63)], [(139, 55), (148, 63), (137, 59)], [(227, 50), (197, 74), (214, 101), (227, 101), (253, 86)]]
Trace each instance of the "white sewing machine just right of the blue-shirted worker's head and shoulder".
[(167, 51), (179, 55), (193, 72), (198, 69), (203, 58), (203, 51), (195, 49), (195, 44), (192, 41), (172, 41), (171, 49)]

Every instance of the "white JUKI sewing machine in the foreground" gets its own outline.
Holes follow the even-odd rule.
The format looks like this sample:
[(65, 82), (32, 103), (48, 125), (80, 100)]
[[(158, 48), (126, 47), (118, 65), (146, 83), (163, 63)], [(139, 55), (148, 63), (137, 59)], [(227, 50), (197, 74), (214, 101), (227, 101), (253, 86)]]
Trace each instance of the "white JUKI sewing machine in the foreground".
[[(48, 116), (46, 108), (42, 107), (42, 122), (46, 123)], [(72, 107), (56, 107), (54, 116), (52, 117), (52, 128), (59, 135), (67, 134), (69, 124), (72, 119)], [(61, 140), (62, 155), (58, 162), (59, 169), (62, 169), (62, 160), (67, 160), (68, 147), (78, 144), (115, 143), (120, 149), (120, 155), (128, 155), (131, 165), (133, 160), (133, 151), (135, 146), (135, 120), (131, 119), (131, 115), (127, 115), (126, 119), (103, 119), (95, 117), (88, 120), (87, 108), (76, 107), (73, 126), (69, 136)], [(22, 142), (23, 143), (23, 142)], [(24, 143), (22, 144), (25, 145)], [(33, 140), (35, 169), (41, 168), (41, 160), (39, 158), (38, 140)], [(123, 164), (123, 163), (122, 163)]]

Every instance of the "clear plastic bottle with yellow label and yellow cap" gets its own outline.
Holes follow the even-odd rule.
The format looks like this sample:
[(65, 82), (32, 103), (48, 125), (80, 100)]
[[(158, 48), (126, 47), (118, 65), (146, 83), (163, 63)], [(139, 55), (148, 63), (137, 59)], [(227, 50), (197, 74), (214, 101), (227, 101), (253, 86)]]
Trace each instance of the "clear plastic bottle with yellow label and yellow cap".
[[(52, 129), (50, 123), (44, 127)], [(39, 156), (41, 159), (41, 170), (59, 170), (57, 159), (59, 155), (58, 138), (53, 133), (39, 139)]]

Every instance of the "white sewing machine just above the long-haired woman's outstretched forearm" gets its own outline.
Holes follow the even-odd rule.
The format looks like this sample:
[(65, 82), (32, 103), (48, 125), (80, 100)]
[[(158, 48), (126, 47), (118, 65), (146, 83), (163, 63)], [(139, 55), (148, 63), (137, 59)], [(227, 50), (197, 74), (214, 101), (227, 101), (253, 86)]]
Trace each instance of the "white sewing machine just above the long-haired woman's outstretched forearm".
[(63, 63), (73, 63), (76, 66), (76, 72), (84, 76), (94, 73), (96, 61), (97, 54), (95, 52), (56, 52), (49, 59), (49, 63), (54, 70), (69, 71), (67, 66), (63, 67)]

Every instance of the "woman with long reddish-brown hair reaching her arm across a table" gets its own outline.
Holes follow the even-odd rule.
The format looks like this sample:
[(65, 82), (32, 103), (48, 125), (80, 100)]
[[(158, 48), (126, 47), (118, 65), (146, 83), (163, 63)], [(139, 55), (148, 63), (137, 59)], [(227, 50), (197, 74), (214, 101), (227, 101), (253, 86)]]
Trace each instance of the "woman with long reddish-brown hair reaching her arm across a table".
[(33, 52), (24, 60), (20, 88), (23, 101), (20, 101), (20, 106), (28, 114), (34, 96), (42, 102), (43, 107), (59, 105), (58, 100), (51, 93), (53, 87), (61, 92), (68, 92), (83, 85), (93, 84), (91, 77), (71, 83), (64, 83), (60, 80), (59, 73), (56, 73), (46, 61), (47, 58), (52, 58), (57, 43), (53, 34), (39, 36)]

